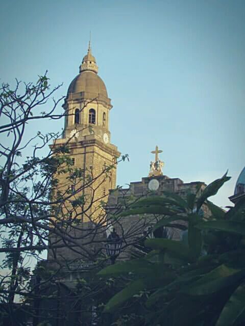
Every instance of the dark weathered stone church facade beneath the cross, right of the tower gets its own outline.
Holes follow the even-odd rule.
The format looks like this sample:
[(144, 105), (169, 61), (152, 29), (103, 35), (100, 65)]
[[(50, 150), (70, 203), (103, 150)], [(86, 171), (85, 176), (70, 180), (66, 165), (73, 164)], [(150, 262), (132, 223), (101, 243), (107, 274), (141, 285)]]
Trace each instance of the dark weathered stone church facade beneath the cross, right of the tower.
[[(158, 182), (158, 189), (152, 191), (149, 189), (151, 187), (150, 182)], [(149, 196), (163, 196), (164, 192), (175, 193), (181, 196), (183, 199), (186, 198), (188, 194), (197, 194), (199, 197), (206, 187), (204, 182), (196, 181), (184, 183), (179, 178), (169, 178), (166, 175), (155, 175), (152, 177), (142, 178), (141, 181), (131, 182), (129, 188), (117, 189), (116, 191), (110, 191), (107, 210), (109, 214), (119, 213), (121, 207), (127, 201), (137, 200), (139, 198), (145, 198)], [(197, 189), (198, 192), (197, 192)], [(210, 210), (206, 204), (202, 205), (201, 212), (206, 218), (210, 216)], [(156, 222), (162, 219), (162, 215), (129, 215), (124, 218), (120, 218), (116, 221), (115, 227), (117, 233), (126, 239), (127, 244), (133, 243), (135, 238), (142, 237), (143, 232), (149, 227), (153, 226)], [(178, 222), (183, 223), (183, 222)], [(178, 228), (167, 227), (167, 232), (169, 237), (174, 240), (181, 240), (182, 231)], [(121, 259), (127, 259), (130, 257), (131, 248), (128, 247), (124, 252), (121, 253)]]

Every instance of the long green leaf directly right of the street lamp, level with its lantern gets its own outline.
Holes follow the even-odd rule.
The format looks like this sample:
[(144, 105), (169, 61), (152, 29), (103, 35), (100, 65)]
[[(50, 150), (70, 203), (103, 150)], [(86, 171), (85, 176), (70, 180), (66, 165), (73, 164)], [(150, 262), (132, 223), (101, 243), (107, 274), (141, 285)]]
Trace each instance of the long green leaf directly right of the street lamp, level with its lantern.
[(152, 249), (168, 250), (173, 252), (177, 257), (187, 261), (192, 261), (194, 258), (189, 248), (180, 241), (155, 238), (146, 239), (144, 244), (146, 247), (150, 247)]

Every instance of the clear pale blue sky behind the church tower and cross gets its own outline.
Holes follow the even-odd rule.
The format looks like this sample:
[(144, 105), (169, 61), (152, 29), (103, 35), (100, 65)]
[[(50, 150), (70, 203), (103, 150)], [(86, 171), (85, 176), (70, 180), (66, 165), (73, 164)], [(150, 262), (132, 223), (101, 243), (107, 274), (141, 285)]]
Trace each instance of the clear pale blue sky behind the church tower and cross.
[[(0, 10), (0, 76), (37, 80), (48, 70), (65, 95), (86, 54), (89, 31), (113, 109), (112, 143), (130, 162), (117, 184), (149, 173), (158, 145), (164, 174), (209, 183), (245, 165), (245, 1), (8, 0)], [(61, 108), (60, 108), (61, 110)], [(59, 130), (63, 121), (31, 126)]]

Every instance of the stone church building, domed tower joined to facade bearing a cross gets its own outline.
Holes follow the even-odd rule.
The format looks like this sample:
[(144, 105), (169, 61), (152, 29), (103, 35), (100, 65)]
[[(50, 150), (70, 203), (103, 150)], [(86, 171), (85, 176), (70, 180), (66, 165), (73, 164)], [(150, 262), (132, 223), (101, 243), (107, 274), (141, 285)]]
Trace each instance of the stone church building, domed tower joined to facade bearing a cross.
[[(84, 261), (88, 262), (90, 258), (93, 260), (93, 257), (95, 258), (96, 254), (103, 249), (96, 241), (93, 241), (95, 244), (90, 243), (89, 255), (84, 253), (83, 257), (81, 252), (85, 247), (82, 243), (89, 242), (86, 234), (96, 233), (97, 242), (105, 240), (112, 230), (112, 226), (107, 225), (107, 215), (120, 210), (121, 202), (125, 199), (128, 200), (132, 197), (137, 199), (152, 194), (161, 196), (166, 191), (186, 197), (189, 193), (195, 194), (197, 189), (201, 194), (206, 186), (204, 182), (184, 183), (180, 178), (169, 178), (163, 175), (164, 163), (159, 156), (162, 150), (156, 146), (152, 151), (155, 158), (150, 162), (149, 175), (143, 177), (141, 181), (131, 182), (127, 189), (118, 188), (115, 191), (116, 166), (120, 152), (115, 145), (111, 144), (109, 118), (112, 104), (105, 83), (98, 75), (98, 70), (89, 42), (87, 54), (79, 67), (79, 74), (70, 83), (64, 100), (63, 137), (56, 140), (51, 146), (53, 151), (60, 146), (67, 146), (70, 165), (82, 177), (75, 184), (71, 180), (67, 181), (67, 176), (64, 174), (58, 176), (59, 191), (62, 190), (62, 193), (65, 194), (71, 189), (71, 198), (62, 207), (62, 211), (63, 216), (68, 216), (67, 219), (70, 221), (72, 219), (79, 221), (81, 230), (76, 230), (76, 234), (73, 234), (72, 232), (75, 231), (71, 230), (70, 234), (78, 241), (81, 238), (81, 248), (77, 250), (77, 253), (71, 252), (63, 243), (63, 248), (55, 252), (48, 251), (48, 260), (50, 261), (54, 259), (54, 256), (71, 261), (83, 260), (83, 263)], [(155, 146), (154, 143), (153, 146)], [(76, 201), (81, 196), (84, 204), (74, 208), (72, 201)], [(203, 205), (203, 213), (209, 215), (209, 210), (205, 205)], [(102, 226), (100, 232), (96, 229), (98, 225)], [(145, 223), (139, 223), (139, 216), (121, 219), (120, 223), (117, 222), (114, 226), (120, 237), (124, 234), (131, 240), (142, 236), (145, 228), (151, 227), (147, 219)], [(95, 235), (93, 234), (91, 237), (95, 237)], [(180, 240), (180, 232), (175, 234), (175, 238)], [(50, 241), (52, 244), (52, 241), (55, 243), (59, 240), (53, 239), (51, 236)]]

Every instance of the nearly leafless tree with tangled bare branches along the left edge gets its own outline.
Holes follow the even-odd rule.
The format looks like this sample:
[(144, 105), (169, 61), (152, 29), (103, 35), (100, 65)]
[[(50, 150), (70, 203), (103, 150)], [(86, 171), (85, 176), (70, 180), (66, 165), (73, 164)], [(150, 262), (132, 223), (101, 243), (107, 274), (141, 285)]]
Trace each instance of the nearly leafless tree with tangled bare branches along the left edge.
[[(113, 224), (121, 229), (123, 248), (142, 235), (142, 225), (132, 225), (125, 234), (119, 219), (110, 217), (108, 223), (108, 194), (99, 198), (95, 196), (115, 165), (125, 160), (127, 155), (115, 160), (111, 166), (104, 166), (99, 175), (94, 175), (92, 170), (84, 171), (72, 165), (69, 156), (72, 138), (65, 145), (48, 148), (51, 142), (56, 144), (62, 132), (36, 131), (27, 138), (26, 130), (31, 124), (36, 128), (39, 121), (59, 120), (69, 114), (57, 113), (63, 97), (55, 100), (53, 95), (59, 88), (51, 88), (46, 73), (39, 76), (36, 84), (16, 80), (14, 89), (8, 84), (0, 88), (0, 252), (4, 255), (0, 300), (2, 305), (8, 305), (12, 325), (16, 322), (12, 314), (16, 295), (24, 301), (32, 300), (35, 308), (40, 293), (43, 297), (51, 282), (59, 284), (59, 271), (64, 266), (69, 270), (78, 259), (92, 261), (96, 267), (102, 264), (106, 231)], [(47, 112), (44, 111), (46, 107), (49, 108)], [(60, 175), (65, 176), (65, 183), (60, 182)], [(121, 207), (113, 207), (114, 214)], [(34, 258), (39, 270), (45, 269), (40, 261), (45, 260), (43, 253), (46, 250), (52, 257), (50, 260), (56, 262), (55, 272), (42, 280), (37, 273), (38, 282), (30, 282), (34, 279), (30, 262)], [(70, 257), (73, 258), (68, 259), (69, 254), (63, 254), (64, 250), (72, 252)], [(83, 266), (86, 270), (86, 263), (80, 265), (81, 269)], [(37, 316), (35, 309), (30, 314)]]

